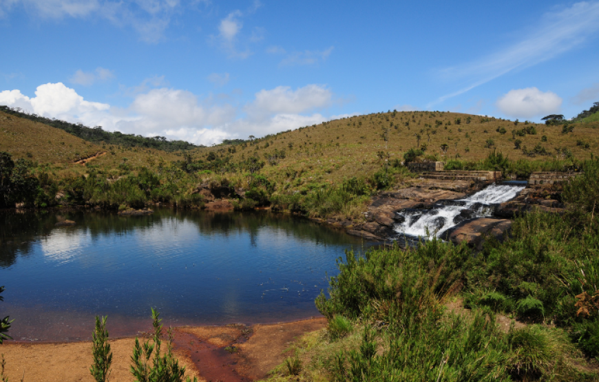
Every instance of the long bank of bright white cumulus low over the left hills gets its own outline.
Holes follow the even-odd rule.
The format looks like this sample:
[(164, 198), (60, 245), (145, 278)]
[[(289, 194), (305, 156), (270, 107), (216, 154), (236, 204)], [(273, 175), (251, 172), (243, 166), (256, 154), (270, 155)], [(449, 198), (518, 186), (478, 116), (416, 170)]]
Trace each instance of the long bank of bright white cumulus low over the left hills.
[[(245, 106), (234, 106), (229, 97), (198, 98), (181, 89), (159, 87), (147, 89), (146, 82), (163, 83), (154, 78), (132, 92), (132, 103), (125, 108), (83, 99), (63, 83), (37, 87), (30, 98), (18, 89), (0, 92), (0, 105), (20, 107), (41, 116), (59, 118), (87, 126), (102, 126), (108, 131), (143, 136), (166, 136), (202, 145), (227, 138), (264, 136), (278, 131), (322, 123), (319, 113), (334, 102), (333, 93), (322, 85), (297, 89), (275, 87), (262, 89)], [(334, 117), (333, 117), (334, 118)]]

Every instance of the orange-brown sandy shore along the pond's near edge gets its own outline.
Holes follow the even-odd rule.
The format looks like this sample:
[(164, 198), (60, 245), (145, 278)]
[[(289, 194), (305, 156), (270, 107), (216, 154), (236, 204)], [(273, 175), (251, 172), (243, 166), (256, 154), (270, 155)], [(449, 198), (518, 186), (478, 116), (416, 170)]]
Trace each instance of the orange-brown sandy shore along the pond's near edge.
[[(284, 361), (296, 337), (326, 326), (324, 317), (289, 323), (174, 328), (173, 351), (187, 375), (200, 381), (246, 382), (263, 379)], [(134, 381), (129, 371), (135, 339), (110, 341), (112, 381)], [(229, 350), (226, 350), (226, 348)], [(11, 381), (94, 381), (91, 341), (71, 343), (6, 342), (5, 374)]]

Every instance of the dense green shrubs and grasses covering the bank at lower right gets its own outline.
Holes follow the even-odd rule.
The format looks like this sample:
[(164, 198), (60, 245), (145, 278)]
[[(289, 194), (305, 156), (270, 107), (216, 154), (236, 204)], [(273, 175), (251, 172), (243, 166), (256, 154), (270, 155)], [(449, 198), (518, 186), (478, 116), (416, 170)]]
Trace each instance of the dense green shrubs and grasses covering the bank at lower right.
[(270, 381), (599, 379), (599, 160), (582, 167), (565, 215), (518, 217), (479, 253), (438, 240), (348, 252), (316, 300), (328, 330)]

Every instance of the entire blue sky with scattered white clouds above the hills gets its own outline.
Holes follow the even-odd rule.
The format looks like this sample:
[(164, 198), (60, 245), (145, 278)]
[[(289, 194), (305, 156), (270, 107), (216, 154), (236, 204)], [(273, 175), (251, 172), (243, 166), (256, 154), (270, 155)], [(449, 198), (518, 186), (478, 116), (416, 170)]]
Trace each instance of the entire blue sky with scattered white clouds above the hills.
[(0, 36), (0, 105), (204, 145), (599, 100), (599, 1), (0, 0)]

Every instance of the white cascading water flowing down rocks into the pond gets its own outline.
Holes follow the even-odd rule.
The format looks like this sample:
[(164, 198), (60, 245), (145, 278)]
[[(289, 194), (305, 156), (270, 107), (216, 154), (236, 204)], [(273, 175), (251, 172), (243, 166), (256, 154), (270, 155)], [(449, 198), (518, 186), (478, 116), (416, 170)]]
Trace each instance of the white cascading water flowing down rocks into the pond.
[[(493, 205), (507, 202), (525, 188), (523, 185), (492, 184), (485, 189), (458, 200), (443, 200), (432, 209), (405, 209), (399, 213), (395, 231), (406, 238), (440, 237), (443, 232), (474, 217), (493, 214)], [(410, 240), (411, 241), (411, 240)]]

